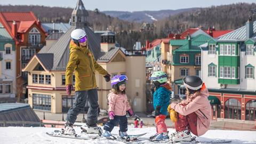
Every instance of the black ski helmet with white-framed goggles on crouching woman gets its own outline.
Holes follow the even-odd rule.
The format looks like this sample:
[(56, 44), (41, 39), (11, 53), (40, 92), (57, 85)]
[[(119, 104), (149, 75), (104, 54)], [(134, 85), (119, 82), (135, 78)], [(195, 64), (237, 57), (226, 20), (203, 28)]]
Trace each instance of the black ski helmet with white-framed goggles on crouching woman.
[(202, 87), (202, 79), (198, 76), (187, 76), (183, 79), (183, 85), (192, 91), (197, 91)]

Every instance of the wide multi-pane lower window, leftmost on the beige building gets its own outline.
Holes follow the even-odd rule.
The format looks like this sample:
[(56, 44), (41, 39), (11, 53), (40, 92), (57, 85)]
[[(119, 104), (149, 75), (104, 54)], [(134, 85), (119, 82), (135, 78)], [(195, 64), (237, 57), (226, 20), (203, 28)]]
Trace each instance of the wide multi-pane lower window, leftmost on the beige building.
[(51, 95), (33, 93), (33, 108), (51, 110)]

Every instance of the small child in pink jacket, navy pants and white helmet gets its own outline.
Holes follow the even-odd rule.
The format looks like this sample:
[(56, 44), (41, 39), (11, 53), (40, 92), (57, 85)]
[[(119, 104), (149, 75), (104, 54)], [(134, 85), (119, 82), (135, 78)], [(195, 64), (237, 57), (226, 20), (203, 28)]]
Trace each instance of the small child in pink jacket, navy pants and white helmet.
[(127, 113), (132, 116), (133, 111), (129, 105), (127, 100), (127, 96), (125, 94), (125, 85), (128, 78), (126, 75), (116, 75), (111, 79), (111, 86), (113, 89), (108, 94), (108, 106), (109, 106), (109, 118), (110, 121), (104, 125), (103, 136), (111, 137), (111, 131), (114, 126), (119, 123), (119, 136), (125, 140), (130, 140), (129, 135), (127, 135)]

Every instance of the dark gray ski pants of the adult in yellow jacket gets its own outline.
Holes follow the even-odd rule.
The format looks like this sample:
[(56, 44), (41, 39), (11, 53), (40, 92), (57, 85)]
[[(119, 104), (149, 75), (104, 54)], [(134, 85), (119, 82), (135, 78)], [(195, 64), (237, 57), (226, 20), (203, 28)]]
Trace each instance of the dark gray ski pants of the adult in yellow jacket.
[(75, 123), (77, 115), (84, 109), (86, 100), (89, 105), (86, 123), (92, 127), (97, 126), (99, 108), (97, 89), (76, 91), (75, 102), (73, 103), (73, 107), (68, 110), (66, 121)]

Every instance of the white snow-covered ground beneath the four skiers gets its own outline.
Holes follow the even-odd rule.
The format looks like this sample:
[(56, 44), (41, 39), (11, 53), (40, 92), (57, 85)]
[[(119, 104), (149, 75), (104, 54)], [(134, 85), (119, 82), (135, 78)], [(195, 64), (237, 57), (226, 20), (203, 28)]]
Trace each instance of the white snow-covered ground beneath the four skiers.
[[(81, 130), (79, 127), (75, 127), (76, 132), (79, 134)], [(118, 133), (119, 127), (115, 127), (111, 132), (113, 134)], [(37, 143), (37, 144), (50, 144), (50, 143), (122, 143), (120, 141), (107, 140), (105, 138), (94, 140), (79, 140), (79, 139), (67, 139), (50, 137), (45, 134), (46, 132), (52, 132), (53, 130), (60, 130), (58, 128), (48, 127), (0, 127), (0, 143)], [(128, 134), (147, 133), (143, 135), (141, 139), (149, 138), (155, 134), (155, 127), (145, 128), (132, 128), (129, 127)], [(174, 132), (174, 129), (169, 129), (169, 132)], [(256, 143), (256, 131), (226, 131), (226, 130), (209, 130), (206, 134), (196, 138), (197, 140), (232, 140), (232, 143)]]

